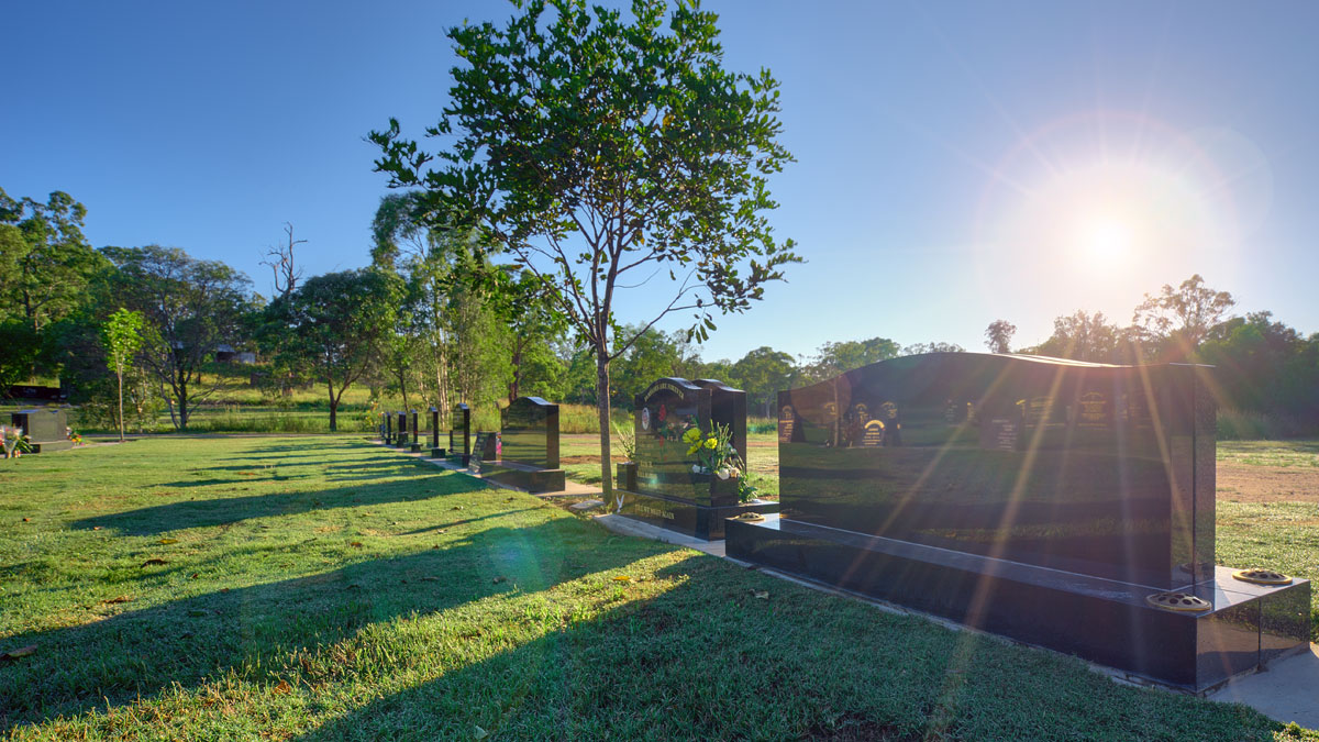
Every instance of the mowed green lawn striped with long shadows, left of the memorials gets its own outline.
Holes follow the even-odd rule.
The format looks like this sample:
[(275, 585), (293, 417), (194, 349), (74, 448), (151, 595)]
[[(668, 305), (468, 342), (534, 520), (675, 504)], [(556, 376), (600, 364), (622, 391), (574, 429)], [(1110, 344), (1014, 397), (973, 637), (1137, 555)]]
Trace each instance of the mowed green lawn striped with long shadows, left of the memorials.
[(0, 461), (13, 739), (1269, 739), (363, 440)]

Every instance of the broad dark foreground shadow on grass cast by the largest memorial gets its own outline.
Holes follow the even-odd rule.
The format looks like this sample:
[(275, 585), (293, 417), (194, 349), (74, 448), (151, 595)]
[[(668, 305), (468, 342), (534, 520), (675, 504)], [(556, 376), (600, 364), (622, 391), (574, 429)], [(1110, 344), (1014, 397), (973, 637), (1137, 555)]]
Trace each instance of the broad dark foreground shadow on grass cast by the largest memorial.
[(582, 622), (528, 606), (524, 640), (466, 651), (456, 667), (398, 660), (431, 679), (298, 739), (481, 730), (492, 739), (1266, 739), (1282, 730), (1249, 709), (1120, 687), (1068, 658), (703, 556), (654, 577), (674, 586), (620, 597)]

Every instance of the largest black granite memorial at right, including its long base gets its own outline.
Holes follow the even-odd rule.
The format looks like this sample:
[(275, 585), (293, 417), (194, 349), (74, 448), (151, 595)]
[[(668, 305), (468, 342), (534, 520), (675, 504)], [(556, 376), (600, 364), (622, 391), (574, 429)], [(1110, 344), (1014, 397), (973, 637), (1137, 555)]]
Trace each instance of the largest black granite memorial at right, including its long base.
[(1210, 372), (927, 354), (780, 392), (781, 515), (728, 555), (1203, 692), (1310, 635), (1308, 581), (1215, 566)]

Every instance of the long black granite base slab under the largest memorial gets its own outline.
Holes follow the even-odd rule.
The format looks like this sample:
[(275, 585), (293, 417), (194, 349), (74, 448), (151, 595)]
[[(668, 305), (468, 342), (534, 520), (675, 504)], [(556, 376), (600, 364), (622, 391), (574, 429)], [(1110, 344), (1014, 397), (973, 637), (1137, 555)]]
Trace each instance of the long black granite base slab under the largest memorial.
[(1178, 586), (1212, 605), (1151, 607), (1162, 589), (810, 525), (727, 522), (728, 556), (910, 606), (1204, 693), (1308, 646), (1310, 582), (1262, 586), (1216, 568)]

